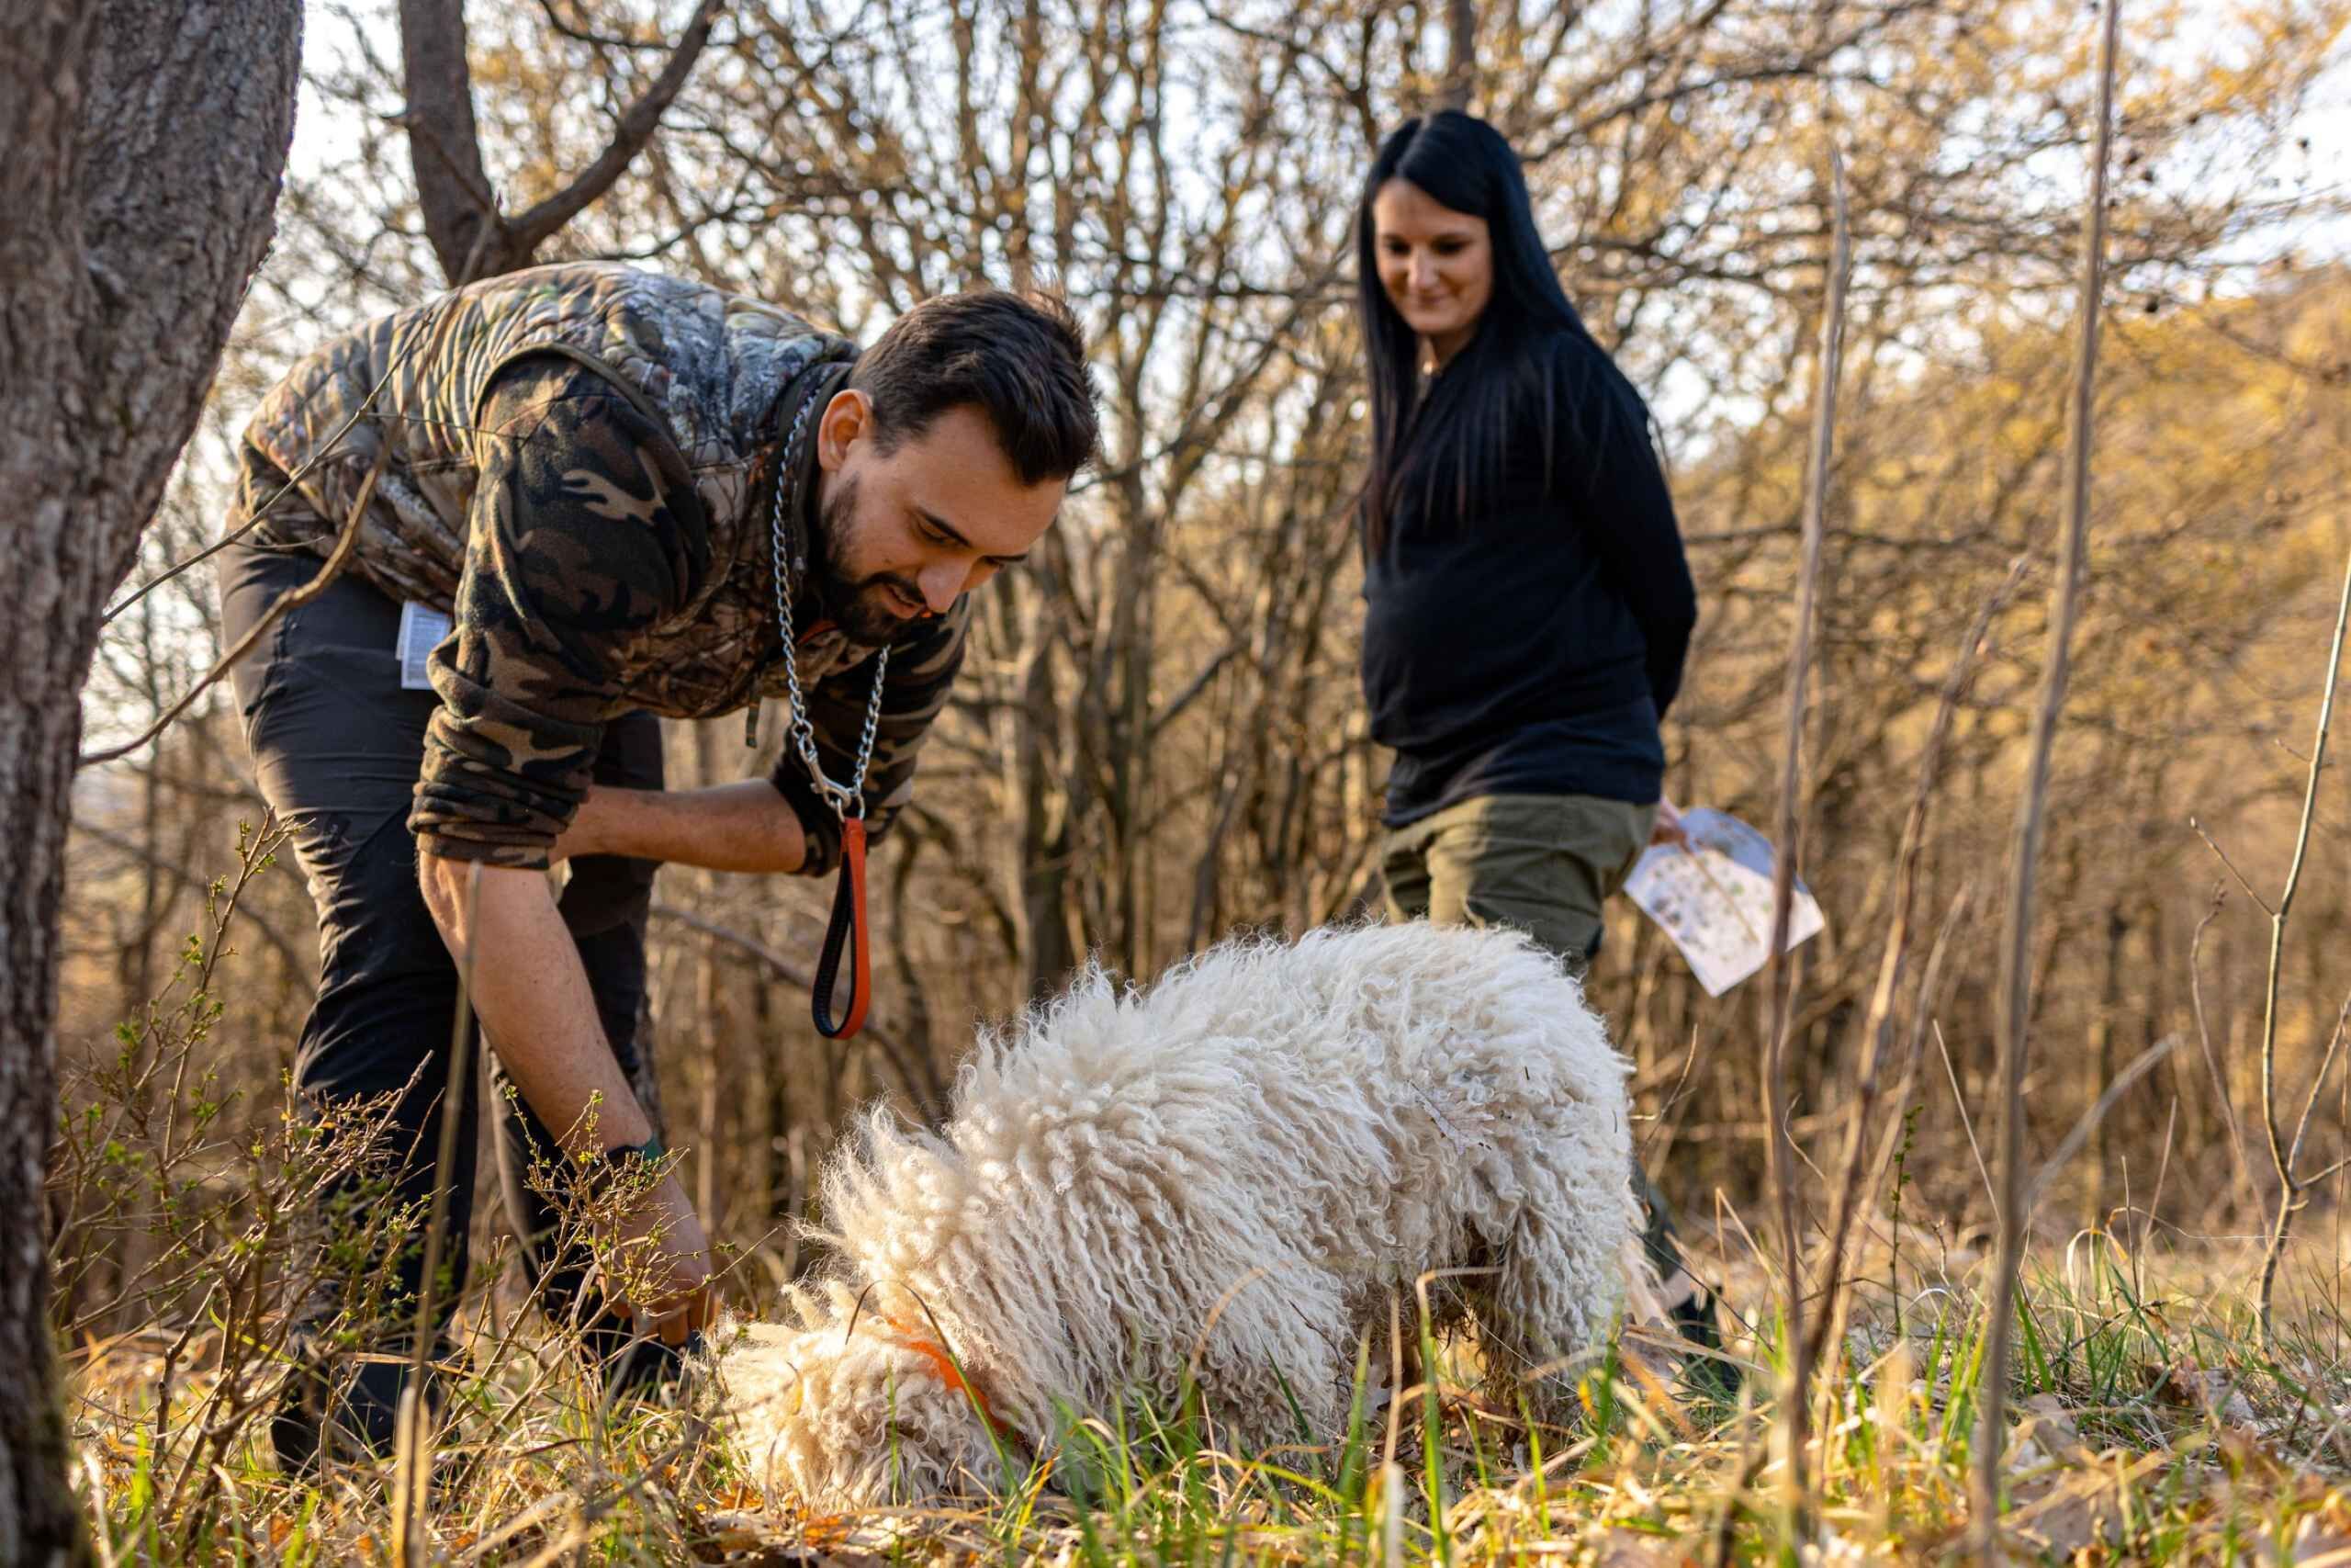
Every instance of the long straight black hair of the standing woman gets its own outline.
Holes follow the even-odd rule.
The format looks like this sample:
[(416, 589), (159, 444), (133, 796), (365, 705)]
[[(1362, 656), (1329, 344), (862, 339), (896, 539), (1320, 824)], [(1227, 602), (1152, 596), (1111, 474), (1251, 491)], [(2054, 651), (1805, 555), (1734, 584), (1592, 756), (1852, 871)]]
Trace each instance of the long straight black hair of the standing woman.
[[(1453, 212), (1486, 219), (1493, 244), (1493, 294), (1469, 343), (1434, 388), (1422, 388), (1420, 334), (1380, 287), (1371, 202), (1392, 179), (1418, 186)], [(1368, 548), (1382, 548), (1406, 482), (1422, 487), (1429, 498), (1451, 489), (1462, 515), (1491, 496), (1502, 482), (1509, 442), (1528, 433), (1523, 416), (1531, 400), (1540, 400), (1547, 482), (1561, 475), (1561, 454), (1552, 444), (1561, 397), (1587, 418), (1589, 409), (1599, 409), (1603, 418), (1632, 418), (1646, 430), (1648, 407), (1641, 395), (1559, 287), (1552, 254), (1535, 233), (1535, 207), (1526, 195), (1519, 155), (1483, 120), (1444, 108), (1406, 120), (1380, 143), (1357, 205), (1354, 252), (1371, 360), (1371, 475), (1364, 484)], [(1578, 444), (1589, 454), (1608, 430), (1592, 425), (1580, 435)], [(1585, 454), (1566, 454), (1568, 475)]]

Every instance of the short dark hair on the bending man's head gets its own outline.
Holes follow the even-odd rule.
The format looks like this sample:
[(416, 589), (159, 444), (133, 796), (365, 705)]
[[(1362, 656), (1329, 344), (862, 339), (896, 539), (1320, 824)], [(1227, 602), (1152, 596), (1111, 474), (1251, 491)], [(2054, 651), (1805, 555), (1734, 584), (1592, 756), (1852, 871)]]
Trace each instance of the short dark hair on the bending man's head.
[(849, 386), (872, 400), (884, 454), (947, 409), (978, 404), (1023, 484), (1067, 480), (1100, 435), (1086, 334), (1053, 294), (926, 299), (858, 355)]

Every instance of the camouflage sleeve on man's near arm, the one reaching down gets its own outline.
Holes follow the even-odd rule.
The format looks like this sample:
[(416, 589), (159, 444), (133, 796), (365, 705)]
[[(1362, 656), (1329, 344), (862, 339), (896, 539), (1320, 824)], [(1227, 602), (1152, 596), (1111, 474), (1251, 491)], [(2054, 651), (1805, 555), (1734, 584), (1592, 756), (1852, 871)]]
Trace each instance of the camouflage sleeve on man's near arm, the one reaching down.
[(451, 860), (545, 867), (637, 649), (708, 571), (708, 529), (668, 430), (581, 364), (505, 369), (480, 425), (409, 830)]

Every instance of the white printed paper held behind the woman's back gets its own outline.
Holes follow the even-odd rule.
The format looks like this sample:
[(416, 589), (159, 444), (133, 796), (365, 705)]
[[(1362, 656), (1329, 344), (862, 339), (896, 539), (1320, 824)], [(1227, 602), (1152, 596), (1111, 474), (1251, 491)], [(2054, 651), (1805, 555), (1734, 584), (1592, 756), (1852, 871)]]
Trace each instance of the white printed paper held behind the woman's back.
[[(1681, 825), (1688, 849), (1650, 844), (1625, 891), (1674, 938), (1707, 994), (1721, 997), (1770, 957), (1773, 846), (1740, 818), (1709, 806), (1690, 806)], [(1820, 903), (1799, 882), (1787, 919), (1789, 950), (1820, 929)]]

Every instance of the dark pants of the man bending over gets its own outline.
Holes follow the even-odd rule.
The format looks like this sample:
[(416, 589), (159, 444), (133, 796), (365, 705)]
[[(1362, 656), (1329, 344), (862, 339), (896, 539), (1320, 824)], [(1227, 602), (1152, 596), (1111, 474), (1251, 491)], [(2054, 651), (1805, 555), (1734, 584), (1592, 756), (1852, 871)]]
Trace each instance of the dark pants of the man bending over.
[[(242, 637), (270, 604), (310, 581), (317, 569), (320, 557), (308, 552), (245, 545), (223, 550), (223, 635), (230, 642)], [(393, 1199), (423, 1204), (435, 1178), (449, 1185), (449, 1229), (442, 1244), (449, 1267), (437, 1291), (435, 1324), (442, 1331), (465, 1284), (482, 1095), (468, 1084), (454, 1168), (437, 1173), (433, 1164), (449, 1091), (458, 976), (418, 891), (416, 839), (407, 825), (426, 722), (437, 698), (433, 691), (402, 689), (397, 635), (400, 607), (346, 574), (263, 632), (261, 644), (235, 670), (235, 691), (261, 792), (292, 830), (317, 900), (317, 1001), (303, 1025), (294, 1086), (313, 1114), (397, 1095), (386, 1140), (402, 1161)], [(595, 783), (661, 788), (658, 719), (628, 715), (611, 724)], [(651, 1041), (637, 1039), (637, 1023), (654, 870), (651, 860), (588, 856), (571, 863), (571, 882), (560, 900), (604, 1037), (647, 1107), (654, 1105)], [(557, 1218), (529, 1180), (534, 1159), (541, 1182), (548, 1180), (545, 1173), (560, 1173), (562, 1161), (548, 1159), (555, 1150), (548, 1128), (522, 1105), (520, 1093), (510, 1093), (496, 1058), (489, 1077), (505, 1213), (524, 1239), (541, 1307), (550, 1319), (569, 1324), (574, 1312), (597, 1307), (592, 1300), (583, 1302), (585, 1267), (578, 1248), (557, 1255)], [(402, 1356), (411, 1342), (421, 1288), (421, 1234), (409, 1237), (393, 1260), (374, 1260), (376, 1267), (383, 1262), (393, 1267), (393, 1288), (379, 1321), (362, 1326), (360, 1347)], [(341, 1295), (341, 1281), (327, 1279), (301, 1312), (296, 1345), (306, 1373), (275, 1432), (280, 1460), (289, 1465), (313, 1460), (329, 1410), (348, 1429), (348, 1439), (367, 1448), (381, 1450), (393, 1439), (404, 1368), (383, 1361), (334, 1366), (317, 1345), (317, 1331)], [(630, 1347), (609, 1316), (588, 1326), (588, 1342), (618, 1378), (668, 1371), (661, 1347)], [(353, 1380), (348, 1394), (339, 1392), (343, 1378)], [(339, 1446), (348, 1446), (348, 1439)]]

